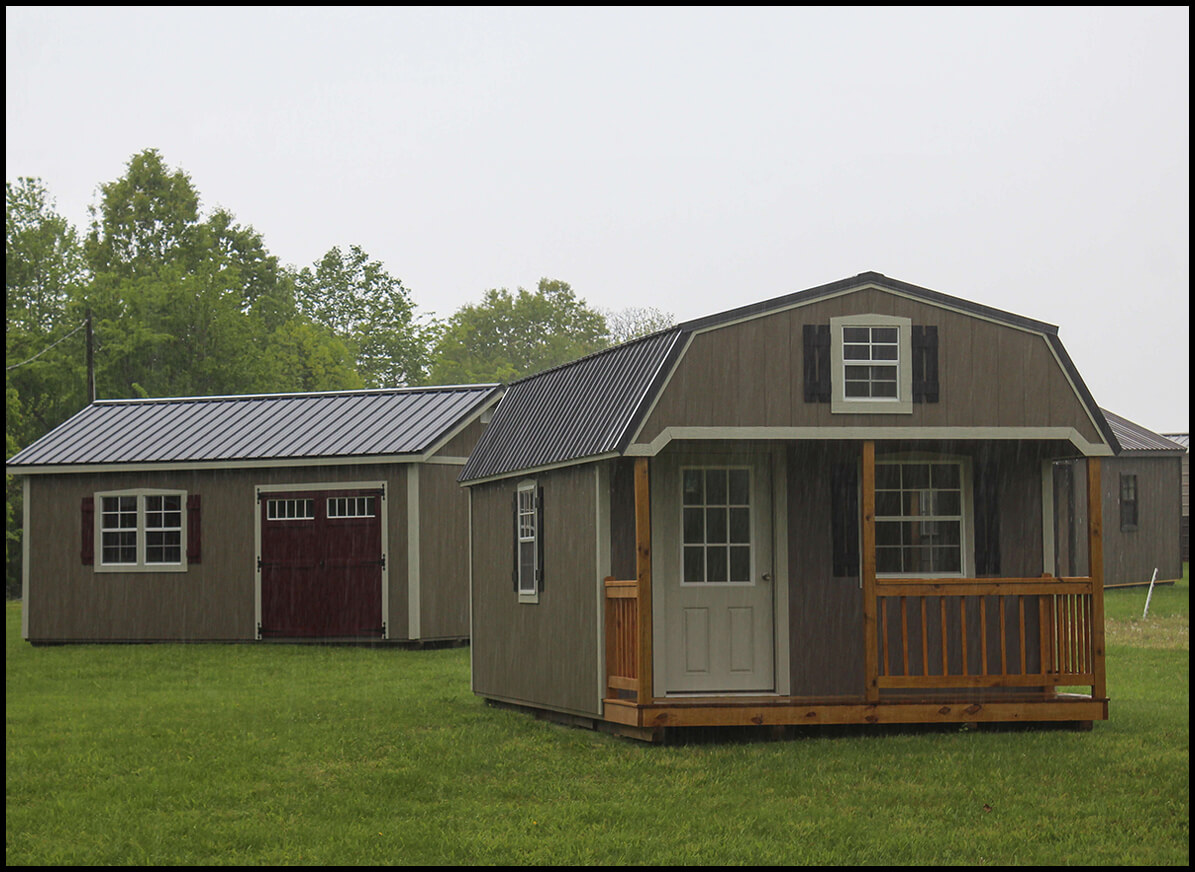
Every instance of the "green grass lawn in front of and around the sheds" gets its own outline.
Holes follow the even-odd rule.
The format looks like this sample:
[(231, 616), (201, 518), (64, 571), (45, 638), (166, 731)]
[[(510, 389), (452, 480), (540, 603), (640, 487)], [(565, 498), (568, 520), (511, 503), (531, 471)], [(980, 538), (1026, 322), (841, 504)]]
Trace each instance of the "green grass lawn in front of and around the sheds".
[(667, 747), (489, 708), (467, 649), (35, 649), (8, 604), (6, 859), (1185, 865), (1185, 576), (1144, 603), (1107, 596), (1091, 732)]

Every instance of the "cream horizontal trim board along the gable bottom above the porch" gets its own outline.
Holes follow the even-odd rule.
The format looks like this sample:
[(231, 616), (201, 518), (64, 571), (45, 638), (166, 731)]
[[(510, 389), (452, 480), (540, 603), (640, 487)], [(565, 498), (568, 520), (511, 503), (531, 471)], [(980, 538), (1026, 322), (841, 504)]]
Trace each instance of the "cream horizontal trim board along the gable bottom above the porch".
[(1073, 426), (669, 426), (626, 456), (654, 458), (676, 440), (1044, 440), (1067, 441), (1087, 458), (1110, 458), (1102, 442), (1089, 442)]

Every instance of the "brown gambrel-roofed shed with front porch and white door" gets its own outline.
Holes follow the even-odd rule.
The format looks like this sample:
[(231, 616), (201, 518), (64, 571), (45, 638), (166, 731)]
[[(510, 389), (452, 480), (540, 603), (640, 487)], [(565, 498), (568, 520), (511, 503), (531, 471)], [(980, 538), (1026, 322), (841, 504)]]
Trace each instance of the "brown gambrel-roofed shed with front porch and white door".
[(1059, 578), (1043, 518), (1115, 449), (1056, 327), (875, 272), (531, 376), (461, 474), (473, 690), (643, 736), (1105, 718), (1099, 520)]

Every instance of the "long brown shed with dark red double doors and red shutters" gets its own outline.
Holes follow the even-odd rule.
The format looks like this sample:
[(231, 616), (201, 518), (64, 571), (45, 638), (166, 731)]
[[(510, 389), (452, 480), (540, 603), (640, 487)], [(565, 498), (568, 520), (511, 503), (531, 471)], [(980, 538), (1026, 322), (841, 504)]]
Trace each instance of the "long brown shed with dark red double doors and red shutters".
[(468, 638), (495, 385), (93, 403), (8, 461), (32, 643)]

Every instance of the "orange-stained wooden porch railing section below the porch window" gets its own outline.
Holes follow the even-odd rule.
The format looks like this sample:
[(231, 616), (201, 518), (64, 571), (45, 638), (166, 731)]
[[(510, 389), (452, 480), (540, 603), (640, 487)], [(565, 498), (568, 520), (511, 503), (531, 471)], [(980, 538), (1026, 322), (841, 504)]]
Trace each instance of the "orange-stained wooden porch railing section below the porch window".
[(877, 579), (876, 687), (1095, 684), (1090, 578)]

